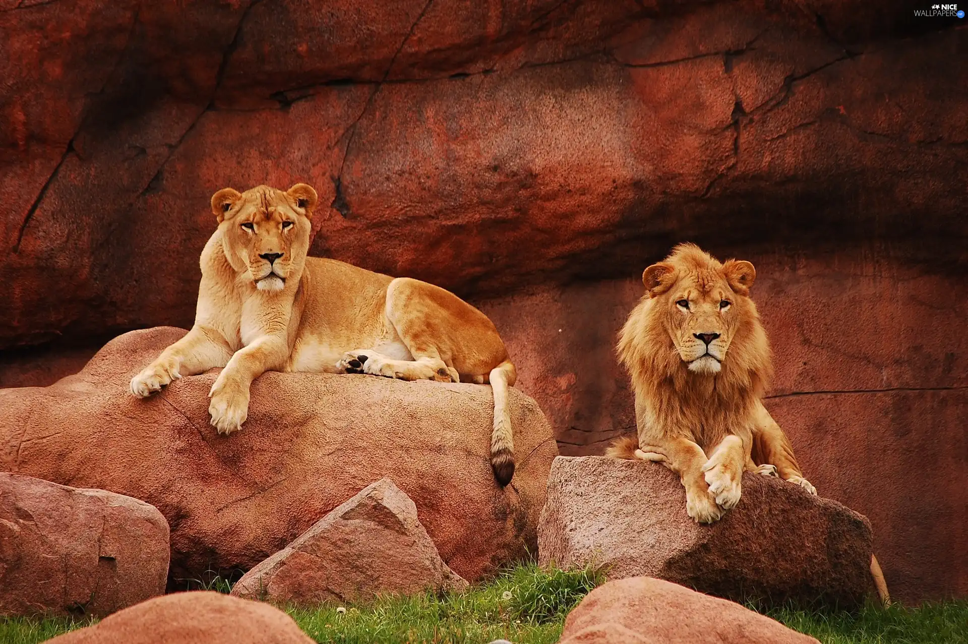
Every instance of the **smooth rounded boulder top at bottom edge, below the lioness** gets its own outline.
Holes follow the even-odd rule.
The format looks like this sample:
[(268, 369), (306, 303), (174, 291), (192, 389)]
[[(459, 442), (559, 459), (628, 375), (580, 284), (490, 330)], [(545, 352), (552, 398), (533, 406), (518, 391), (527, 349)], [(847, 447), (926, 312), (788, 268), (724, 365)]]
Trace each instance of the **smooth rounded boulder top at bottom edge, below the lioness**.
[(175, 593), (126, 608), (50, 644), (312, 644), (286, 613), (258, 601)]

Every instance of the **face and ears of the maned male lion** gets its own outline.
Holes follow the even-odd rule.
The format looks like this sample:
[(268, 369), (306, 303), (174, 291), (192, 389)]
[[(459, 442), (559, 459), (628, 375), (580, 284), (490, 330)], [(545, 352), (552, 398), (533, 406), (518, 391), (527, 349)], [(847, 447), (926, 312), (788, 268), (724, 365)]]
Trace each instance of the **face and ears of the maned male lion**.
[(721, 269), (676, 268), (653, 264), (643, 274), (656, 298), (676, 351), (689, 371), (715, 375), (727, 359), (742, 320), (742, 307), (756, 277), (748, 261), (728, 261)]

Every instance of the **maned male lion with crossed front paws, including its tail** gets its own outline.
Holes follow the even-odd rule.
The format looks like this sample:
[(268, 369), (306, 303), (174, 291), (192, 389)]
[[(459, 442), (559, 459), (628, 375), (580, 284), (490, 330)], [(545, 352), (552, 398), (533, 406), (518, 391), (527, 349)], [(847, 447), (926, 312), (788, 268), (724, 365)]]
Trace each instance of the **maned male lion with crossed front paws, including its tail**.
[[(719, 262), (681, 244), (642, 274), (646, 295), (619, 335), (632, 377), (637, 437), (606, 455), (662, 463), (680, 475), (685, 511), (712, 523), (740, 502), (743, 470), (779, 475), (810, 494), (793, 447), (761, 402), (771, 351), (749, 289), (748, 261)], [(871, 573), (888, 600), (881, 568)]]

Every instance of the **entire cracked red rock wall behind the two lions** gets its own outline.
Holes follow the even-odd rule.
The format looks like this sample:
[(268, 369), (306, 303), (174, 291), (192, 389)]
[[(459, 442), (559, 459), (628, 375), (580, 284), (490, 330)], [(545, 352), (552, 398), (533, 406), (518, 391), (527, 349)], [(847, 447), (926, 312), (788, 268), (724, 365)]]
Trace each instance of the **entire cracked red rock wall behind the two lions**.
[(562, 451), (597, 451), (632, 426), (609, 347), (635, 276), (689, 239), (762, 264), (789, 357), (771, 409), (870, 515), (895, 593), (968, 594), (961, 22), (836, 0), (0, 10), (0, 383), (57, 370), (12, 348), (187, 326), (211, 194), (308, 181), (314, 254), (485, 302)]

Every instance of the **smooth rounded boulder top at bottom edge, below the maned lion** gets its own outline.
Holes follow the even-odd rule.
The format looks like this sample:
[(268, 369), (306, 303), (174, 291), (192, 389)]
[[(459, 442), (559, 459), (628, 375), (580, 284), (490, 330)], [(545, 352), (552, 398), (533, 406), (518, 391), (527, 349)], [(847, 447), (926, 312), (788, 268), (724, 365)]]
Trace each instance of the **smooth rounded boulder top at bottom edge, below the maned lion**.
[(819, 644), (754, 613), (650, 577), (610, 581), (564, 622), (560, 644)]

